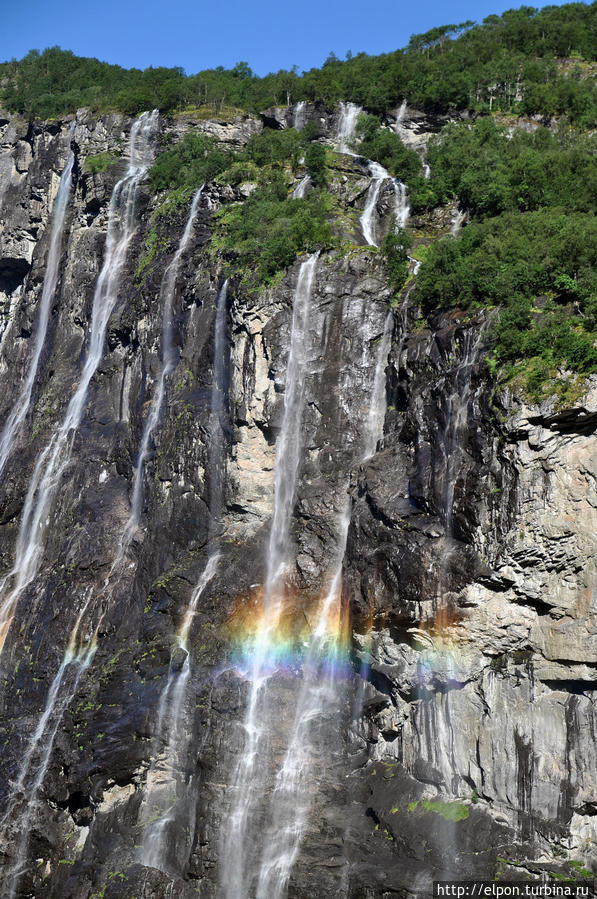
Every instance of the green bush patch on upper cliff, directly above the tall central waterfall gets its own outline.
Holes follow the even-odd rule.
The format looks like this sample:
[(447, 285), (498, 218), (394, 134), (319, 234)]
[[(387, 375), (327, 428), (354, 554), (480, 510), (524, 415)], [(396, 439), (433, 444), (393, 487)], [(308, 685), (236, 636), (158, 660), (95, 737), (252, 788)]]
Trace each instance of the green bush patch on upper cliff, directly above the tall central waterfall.
[[(325, 147), (313, 142), (316, 134), (311, 128), (300, 134), (294, 128), (266, 128), (237, 152), (222, 149), (209, 136), (187, 134), (161, 153), (151, 169), (150, 181), (154, 190), (167, 191), (167, 195), (152, 216), (138, 278), (160, 250), (159, 216), (187, 201), (197, 187), (213, 179), (256, 185), (244, 202), (218, 212), (212, 238), (212, 250), (224, 255), (227, 270), (240, 270), (253, 286), (271, 283), (301, 253), (332, 246), (334, 237), (328, 221), (331, 197), (322, 189), (326, 181)], [(303, 155), (315, 189), (303, 199), (292, 199), (289, 185)]]

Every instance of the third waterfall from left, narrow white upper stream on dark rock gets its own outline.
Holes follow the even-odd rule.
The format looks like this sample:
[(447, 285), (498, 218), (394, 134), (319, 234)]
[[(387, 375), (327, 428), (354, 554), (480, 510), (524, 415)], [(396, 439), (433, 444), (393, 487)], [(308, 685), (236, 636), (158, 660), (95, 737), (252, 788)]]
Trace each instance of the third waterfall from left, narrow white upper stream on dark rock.
[(191, 203), (189, 217), (187, 219), (185, 229), (178, 244), (178, 249), (176, 250), (172, 261), (164, 271), (162, 283), (160, 285), (160, 302), (163, 307), (162, 369), (160, 372), (157, 389), (153, 395), (149, 414), (145, 421), (145, 427), (143, 428), (141, 446), (139, 449), (139, 454), (137, 456), (137, 462), (135, 464), (135, 472), (133, 474), (133, 497), (131, 500), (131, 511), (122, 534), (120, 549), (116, 560), (112, 565), (112, 569), (117, 568), (119, 563), (122, 561), (124, 554), (129, 547), (139, 526), (139, 521), (141, 520), (141, 512), (143, 510), (143, 474), (145, 470), (145, 463), (149, 457), (149, 445), (153, 436), (153, 432), (156, 429), (160, 420), (160, 416), (162, 414), (162, 406), (164, 404), (164, 396), (166, 393), (166, 380), (168, 378), (168, 375), (171, 374), (176, 366), (176, 350), (174, 347), (174, 329), (172, 324), (174, 291), (176, 289), (176, 282), (180, 271), (182, 257), (189, 245), (193, 234), (193, 227), (195, 225), (195, 219), (197, 217), (199, 200), (203, 192), (203, 187), (204, 185), (202, 185), (199, 190), (195, 192), (193, 201)]

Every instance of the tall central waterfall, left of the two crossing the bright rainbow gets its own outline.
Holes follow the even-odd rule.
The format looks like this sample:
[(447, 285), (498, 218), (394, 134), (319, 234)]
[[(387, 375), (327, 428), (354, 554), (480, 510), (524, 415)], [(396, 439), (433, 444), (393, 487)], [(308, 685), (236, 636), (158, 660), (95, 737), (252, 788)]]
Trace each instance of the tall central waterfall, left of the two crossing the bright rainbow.
[(282, 575), (286, 563), (290, 521), (301, 458), (301, 425), (307, 354), (309, 310), (318, 254), (300, 267), (294, 294), (290, 350), (286, 366), (284, 416), (276, 449), (274, 510), (267, 550), (263, 617), (249, 660), (249, 699), (244, 721), (244, 746), (232, 781), (233, 802), (220, 851), (220, 886), (226, 899), (249, 894), (248, 862), (255, 842), (250, 826), (263, 782), (266, 739), (268, 653), (281, 614)]

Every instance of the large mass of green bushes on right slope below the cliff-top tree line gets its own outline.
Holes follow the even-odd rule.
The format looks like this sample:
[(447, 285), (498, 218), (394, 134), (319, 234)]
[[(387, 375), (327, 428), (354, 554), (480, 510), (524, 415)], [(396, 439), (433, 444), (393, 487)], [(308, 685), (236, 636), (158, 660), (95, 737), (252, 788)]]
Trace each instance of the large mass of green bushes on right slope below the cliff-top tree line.
[[(445, 128), (428, 160), (431, 178), (410, 185), (413, 207), (457, 199), (472, 223), (429, 247), (417, 280), (423, 311), (500, 307), (490, 366), (520, 376), (534, 399), (562, 368), (597, 371), (595, 135), (564, 125), (510, 132), (483, 118)], [(562, 399), (580, 390), (557, 386)]]

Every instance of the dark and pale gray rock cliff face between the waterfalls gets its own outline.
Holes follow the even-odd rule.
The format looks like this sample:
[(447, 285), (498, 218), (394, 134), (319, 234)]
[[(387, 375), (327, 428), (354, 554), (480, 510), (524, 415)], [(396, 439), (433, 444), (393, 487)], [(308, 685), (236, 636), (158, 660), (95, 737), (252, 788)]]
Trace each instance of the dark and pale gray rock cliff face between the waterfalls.
[[(288, 126), (292, 114), (270, 110), (263, 121)], [(333, 133), (336, 111), (308, 106), (305, 116)], [(0, 115), (0, 423), (27, 369), (70, 124)], [(48, 337), (0, 485), (4, 573), (32, 472), (86, 357), (108, 203), (126, 167), (130, 127), (122, 116), (76, 118), (73, 198)], [(239, 146), (261, 127), (254, 118), (182, 118), (160, 130), (203, 130)], [(109, 164), (93, 173), (85, 161), (100, 153)], [(366, 181), (355, 184), (358, 165), (349, 178), (351, 165), (345, 189), (342, 181), (333, 189), (352, 207)], [(39, 574), (8, 630), (0, 657), (0, 861), (12, 877), (20, 859), (17, 896), (219, 895), (248, 695), (236, 641), (265, 576), (298, 276), (297, 264), (259, 295), (229, 284), (224, 509), (214, 517), (210, 398), (222, 277), (207, 243), (228, 190), (204, 191), (181, 261), (178, 362), (146, 465), (141, 526), (115, 576), (161, 371), (160, 284), (188, 214), (181, 208), (163, 226), (147, 261), (157, 201), (141, 188), (139, 227), (71, 436)], [(594, 863), (597, 384), (570, 408), (525, 405), (489, 376), (484, 315), (422, 327), (415, 298), (407, 294), (394, 310), (387, 366), (381, 357), (384, 432), (364, 460), (392, 297), (383, 261), (368, 248), (318, 262), (288, 619), (296, 632), (313, 629), (314, 603), (342, 562), (348, 647), (313, 746), (314, 797), (288, 885), (295, 899), (424, 894), (434, 878), (493, 878), (506, 869), (509, 877), (569, 875), (567, 854)], [(174, 770), (155, 736), (160, 700), (186, 664), (177, 634), (216, 548), (220, 562), (189, 634), (181, 745), (190, 748)], [(300, 672), (291, 665), (270, 681), (266, 798)], [(139, 851), (143, 802), (156, 784), (171, 795), (175, 824), (164, 870), (141, 864)], [(268, 827), (263, 811), (256, 845)]]

